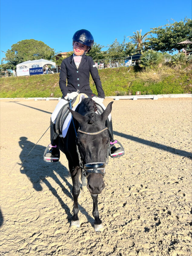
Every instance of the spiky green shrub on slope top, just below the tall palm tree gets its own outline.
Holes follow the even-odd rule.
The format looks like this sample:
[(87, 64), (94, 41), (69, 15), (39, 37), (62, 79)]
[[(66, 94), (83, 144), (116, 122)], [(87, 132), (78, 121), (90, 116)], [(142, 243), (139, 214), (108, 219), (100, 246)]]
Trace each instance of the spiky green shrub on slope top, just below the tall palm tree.
[(164, 56), (161, 52), (149, 50), (141, 56), (140, 66), (145, 69), (154, 68), (157, 67), (160, 63), (163, 63), (163, 61)]

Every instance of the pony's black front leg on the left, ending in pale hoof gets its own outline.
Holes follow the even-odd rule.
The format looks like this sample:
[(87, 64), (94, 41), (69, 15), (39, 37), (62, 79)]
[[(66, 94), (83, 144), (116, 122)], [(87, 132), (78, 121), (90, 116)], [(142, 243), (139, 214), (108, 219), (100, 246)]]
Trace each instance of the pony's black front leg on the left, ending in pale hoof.
[(72, 194), (73, 194), (73, 217), (71, 219), (71, 226), (76, 226), (79, 228), (79, 218), (78, 218), (78, 196), (80, 193), (79, 186), (79, 172), (80, 168), (78, 166), (73, 167), (71, 172), (71, 178), (73, 182)]

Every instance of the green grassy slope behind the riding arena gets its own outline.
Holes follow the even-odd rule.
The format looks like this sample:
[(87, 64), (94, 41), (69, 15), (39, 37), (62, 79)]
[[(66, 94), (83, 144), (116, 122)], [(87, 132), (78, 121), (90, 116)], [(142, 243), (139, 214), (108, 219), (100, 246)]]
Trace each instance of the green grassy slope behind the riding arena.
[[(174, 70), (163, 66), (141, 71), (138, 67), (106, 68), (99, 70), (105, 96), (192, 93), (191, 68)], [(1, 98), (61, 97), (59, 74), (0, 78)], [(91, 89), (97, 94), (90, 78)]]

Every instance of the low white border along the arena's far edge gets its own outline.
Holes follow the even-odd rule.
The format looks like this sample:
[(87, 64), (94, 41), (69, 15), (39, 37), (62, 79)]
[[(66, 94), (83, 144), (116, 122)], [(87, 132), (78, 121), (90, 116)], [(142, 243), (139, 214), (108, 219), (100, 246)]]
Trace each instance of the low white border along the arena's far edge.
[[(137, 99), (153, 99), (158, 100), (161, 98), (192, 98), (192, 94), (158, 94), (158, 95), (130, 95), (130, 96), (107, 96), (105, 98), (111, 98), (114, 100), (137, 100)], [(0, 98), (0, 100), (58, 100), (60, 101), (61, 98)]]

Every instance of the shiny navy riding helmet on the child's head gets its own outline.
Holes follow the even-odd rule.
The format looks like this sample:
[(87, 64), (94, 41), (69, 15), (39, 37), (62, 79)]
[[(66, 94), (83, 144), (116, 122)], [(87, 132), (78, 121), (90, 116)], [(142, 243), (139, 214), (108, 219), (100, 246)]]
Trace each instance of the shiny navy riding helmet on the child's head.
[(81, 43), (83, 45), (89, 46), (88, 52), (91, 50), (93, 44), (94, 44), (94, 39), (91, 33), (86, 30), (86, 29), (80, 29), (76, 31), (73, 35), (73, 42), (76, 41), (78, 43)]

